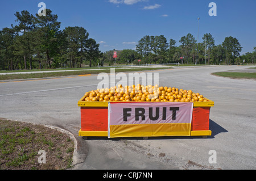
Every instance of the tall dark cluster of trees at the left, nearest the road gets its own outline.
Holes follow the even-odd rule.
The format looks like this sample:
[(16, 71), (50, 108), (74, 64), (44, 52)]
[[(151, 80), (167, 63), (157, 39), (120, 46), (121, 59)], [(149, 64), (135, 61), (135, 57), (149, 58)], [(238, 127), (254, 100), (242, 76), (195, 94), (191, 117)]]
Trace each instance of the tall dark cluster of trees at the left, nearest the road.
[(79, 68), (92, 66), (102, 53), (100, 44), (83, 27), (60, 30), (58, 16), (46, 9), (46, 16), (24, 10), (15, 13), (18, 25), (0, 31), (0, 70)]

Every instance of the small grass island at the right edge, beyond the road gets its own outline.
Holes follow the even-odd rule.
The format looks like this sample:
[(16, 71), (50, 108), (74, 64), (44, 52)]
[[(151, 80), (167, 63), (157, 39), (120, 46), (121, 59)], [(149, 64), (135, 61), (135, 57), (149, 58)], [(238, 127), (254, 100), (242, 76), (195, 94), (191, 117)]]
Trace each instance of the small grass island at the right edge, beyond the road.
[(229, 78), (245, 78), (245, 79), (256, 79), (256, 73), (245, 73), (245, 72), (216, 72), (213, 75)]

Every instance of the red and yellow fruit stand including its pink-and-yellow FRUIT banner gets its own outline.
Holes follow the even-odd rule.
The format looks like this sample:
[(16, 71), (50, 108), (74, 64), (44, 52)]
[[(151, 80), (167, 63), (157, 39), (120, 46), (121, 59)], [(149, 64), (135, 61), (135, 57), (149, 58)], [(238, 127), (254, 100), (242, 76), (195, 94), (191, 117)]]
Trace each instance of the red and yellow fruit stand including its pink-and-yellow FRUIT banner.
[[(167, 92), (167, 89), (165, 90)], [(176, 90), (174, 89), (173, 95), (175, 94), (175, 92)], [(181, 90), (180, 92), (184, 92), (184, 91)], [(90, 92), (90, 95), (93, 95), (92, 91)], [(114, 95), (117, 97), (117, 94), (113, 94), (113, 96)], [(164, 95), (164, 93), (162, 95)], [(191, 91), (191, 95), (192, 95), (192, 91)], [(96, 97), (96, 96), (97, 95), (94, 95), (92, 97)], [(96, 100), (94, 99), (93, 101), (93, 100), (86, 99), (86, 97), (89, 97), (89, 95), (85, 94), (78, 102), (78, 106), (80, 107), (80, 111), (81, 111), (81, 129), (79, 131), (79, 136), (82, 136), (84, 138), (86, 137), (109, 137), (109, 138), (156, 137), (156, 136), (207, 137), (212, 134), (212, 132), (209, 130), (209, 115), (210, 115), (210, 108), (214, 106), (214, 102), (207, 98), (204, 98), (204, 101), (196, 101), (193, 99), (191, 101), (186, 101), (186, 102), (182, 101), (181, 99), (181, 101), (177, 101), (178, 102), (177, 103), (176, 101), (171, 99), (169, 101), (163, 100), (159, 102), (152, 102), (153, 98), (151, 99), (151, 101), (150, 100), (129, 101), (129, 100), (133, 100), (133, 98), (129, 98), (129, 100), (127, 101), (125, 100), (97, 101), (97, 99), (99, 99), (97, 98)], [(122, 97), (126, 97), (126, 95), (123, 95)], [(200, 98), (200, 96), (198, 97)], [(203, 96), (201, 95), (201, 97)], [(136, 99), (134, 98), (134, 100)], [(182, 122), (182, 120), (180, 121), (179, 120), (180, 118), (178, 117), (179, 119), (177, 119), (177, 121), (174, 123), (175, 112), (174, 110), (172, 110), (172, 107), (174, 106), (178, 108), (177, 112), (179, 112), (181, 116), (184, 116), (186, 114), (187, 114), (187, 117), (190, 116), (187, 118), (187, 120), (189, 119), (189, 121)], [(185, 112), (181, 113), (183, 106), (191, 106), (190, 115), (189, 113), (185, 113)], [(143, 120), (127, 121), (127, 119), (130, 119), (135, 114), (132, 111), (132, 107), (135, 107), (135, 110), (136, 110), (136, 107), (141, 107), (140, 108), (141, 110), (148, 110), (147, 109), (148, 107), (149, 110), (153, 112), (150, 115), (151, 120), (148, 120), (147, 118), (148, 111), (143, 112), (146, 115), (146, 119), (144, 118), (145, 116), (142, 115), (142, 112), (137, 111), (136, 113), (138, 113), (139, 116), (141, 116), (139, 117), (139, 119), (144, 118), (144, 121)], [(169, 107), (172, 112), (169, 111)], [(120, 110), (119, 112), (118, 112), (118, 108)], [(189, 112), (189, 109), (190, 108), (188, 107), (183, 108), (184, 111), (188, 111), (188, 112)], [(126, 110), (126, 112), (122, 110)], [(158, 116), (160, 117), (159, 120), (156, 120), (157, 118), (154, 119), (156, 117), (156, 112), (160, 112), (160, 116)], [(172, 116), (171, 116), (171, 113), (172, 113)], [(123, 115), (126, 115), (126, 117), (125, 116), (122, 117)], [(168, 116), (170, 118), (168, 118)], [(122, 122), (121, 123), (122, 125), (117, 125), (118, 123), (113, 123), (112, 125), (112, 123), (110, 122), (111, 117), (113, 117), (112, 119), (115, 122), (117, 122), (116, 119), (119, 119), (118, 117), (120, 117), (119, 122)], [(152, 118), (154, 119), (153, 121), (152, 121)], [(168, 119), (171, 120), (171, 122), (170, 121), (168, 122)], [(150, 124), (145, 124), (145, 123), (150, 123)]]

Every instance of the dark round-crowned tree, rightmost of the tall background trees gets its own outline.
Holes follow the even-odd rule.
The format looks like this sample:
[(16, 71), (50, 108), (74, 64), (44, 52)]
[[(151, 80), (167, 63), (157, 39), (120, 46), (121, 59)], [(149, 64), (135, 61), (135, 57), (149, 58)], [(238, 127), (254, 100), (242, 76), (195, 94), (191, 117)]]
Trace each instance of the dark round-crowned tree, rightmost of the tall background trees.
[(239, 43), (238, 39), (232, 36), (225, 37), (222, 46), (226, 49), (226, 57), (232, 57), (232, 64), (234, 64), (236, 56), (239, 56), (242, 50), (241, 44)]

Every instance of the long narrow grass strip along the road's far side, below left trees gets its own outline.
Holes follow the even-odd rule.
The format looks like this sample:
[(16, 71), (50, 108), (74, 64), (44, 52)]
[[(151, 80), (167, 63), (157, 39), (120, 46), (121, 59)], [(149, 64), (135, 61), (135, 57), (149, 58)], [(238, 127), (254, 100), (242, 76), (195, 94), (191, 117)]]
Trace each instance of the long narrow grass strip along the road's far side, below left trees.
[[(159, 70), (159, 69), (171, 69), (171, 68), (126, 68), (126, 69), (115, 69), (115, 72)], [(0, 80), (63, 77), (63, 76), (71, 76), (71, 75), (98, 74), (102, 72), (110, 73), (110, 69), (98, 69), (98, 70), (88, 69), (88, 70), (80, 70), (80, 71), (59, 71), (59, 72), (49, 71), (47, 73), (0, 75)]]

